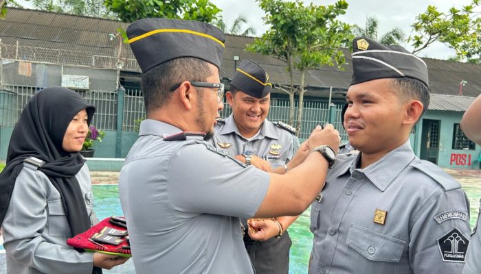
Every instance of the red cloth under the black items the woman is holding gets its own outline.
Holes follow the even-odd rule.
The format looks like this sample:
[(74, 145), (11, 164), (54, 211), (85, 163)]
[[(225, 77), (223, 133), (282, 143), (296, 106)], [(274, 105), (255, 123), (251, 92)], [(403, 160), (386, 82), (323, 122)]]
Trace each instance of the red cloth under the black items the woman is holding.
[(89, 241), (89, 238), (91, 238), (93, 234), (100, 233), (100, 230), (102, 230), (104, 227), (112, 227), (124, 231), (126, 230), (124, 227), (114, 225), (113, 223), (109, 222), (109, 220), (110, 217), (107, 217), (93, 227), (90, 227), (90, 229), (86, 232), (80, 233), (72, 238), (67, 239), (67, 245), (78, 249), (85, 249), (86, 251), (97, 251), (112, 255), (131, 257), (131, 249), (122, 249), (122, 246), (128, 246), (127, 240), (125, 238), (124, 242), (117, 246), (100, 243), (100, 245), (103, 245), (107, 248), (101, 247), (100, 245), (96, 245), (95, 243)]

